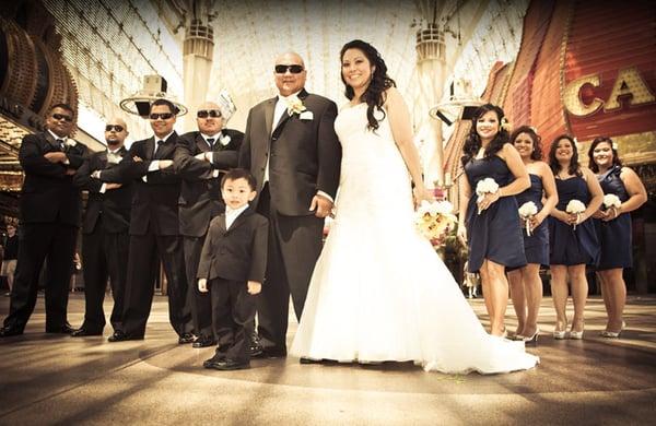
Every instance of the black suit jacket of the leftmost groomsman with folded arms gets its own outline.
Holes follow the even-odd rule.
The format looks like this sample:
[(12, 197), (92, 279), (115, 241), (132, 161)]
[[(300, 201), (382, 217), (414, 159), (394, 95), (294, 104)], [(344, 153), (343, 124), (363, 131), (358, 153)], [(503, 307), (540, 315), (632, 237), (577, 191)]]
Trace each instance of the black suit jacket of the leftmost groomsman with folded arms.
[(60, 222), (80, 226), (82, 199), (67, 169), (79, 168), (87, 153), (86, 145), (77, 142), (66, 147), (70, 164), (50, 163), (44, 157), (60, 147), (49, 132), (27, 134), (19, 151), (25, 171), (21, 191), (20, 212), (23, 223)]

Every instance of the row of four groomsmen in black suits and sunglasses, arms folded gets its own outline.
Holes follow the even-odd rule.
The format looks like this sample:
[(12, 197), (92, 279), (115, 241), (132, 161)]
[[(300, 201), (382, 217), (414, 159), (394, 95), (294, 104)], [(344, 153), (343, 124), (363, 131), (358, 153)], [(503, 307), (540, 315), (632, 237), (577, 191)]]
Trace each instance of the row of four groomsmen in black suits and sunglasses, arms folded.
[[(143, 339), (162, 262), (178, 343), (214, 344), (210, 298), (198, 292), (196, 273), (210, 220), (224, 209), (221, 170), (237, 166), (244, 133), (223, 128), (233, 113), (226, 105), (201, 105), (196, 111), (199, 130), (184, 135), (174, 130), (177, 113), (167, 99), (153, 102), (153, 137), (132, 143), (129, 151), (124, 146), (127, 125), (113, 118), (105, 127), (107, 151), (90, 155), (84, 144), (69, 138), (74, 111), (66, 104), (50, 108), (45, 132), (24, 138), (20, 268), (0, 336), (23, 333), (46, 263), (47, 333), (102, 335), (109, 281), (109, 342)], [(89, 192), (81, 223), (85, 315), (75, 330), (67, 321), (67, 305), (81, 190)]]

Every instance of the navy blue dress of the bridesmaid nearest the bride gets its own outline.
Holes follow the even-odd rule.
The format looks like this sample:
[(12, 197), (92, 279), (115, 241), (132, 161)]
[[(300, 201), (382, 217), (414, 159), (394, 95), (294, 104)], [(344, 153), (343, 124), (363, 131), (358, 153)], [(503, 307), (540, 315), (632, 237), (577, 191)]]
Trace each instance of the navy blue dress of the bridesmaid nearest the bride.
[(515, 197), (500, 198), (481, 214), (478, 214), (476, 204), (478, 198), (476, 186), (479, 180), (490, 177), (501, 188), (512, 182), (515, 176), (497, 155), (470, 161), (465, 166), (465, 173), (472, 192), (465, 220), (469, 246), (469, 272), (480, 270), (485, 259), (513, 269), (526, 265), (524, 237)]

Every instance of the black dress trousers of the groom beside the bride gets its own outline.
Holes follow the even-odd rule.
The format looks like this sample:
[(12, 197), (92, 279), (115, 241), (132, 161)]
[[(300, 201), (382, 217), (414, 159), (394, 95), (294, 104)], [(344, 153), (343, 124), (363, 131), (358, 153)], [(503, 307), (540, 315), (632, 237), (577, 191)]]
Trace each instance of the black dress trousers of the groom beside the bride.
[(301, 320), (309, 280), (323, 248), (324, 220), (278, 213), (271, 203), (268, 184), (257, 210), (269, 218), (267, 277), (257, 299), (258, 334), (263, 348), (286, 351), (290, 294), (296, 318)]

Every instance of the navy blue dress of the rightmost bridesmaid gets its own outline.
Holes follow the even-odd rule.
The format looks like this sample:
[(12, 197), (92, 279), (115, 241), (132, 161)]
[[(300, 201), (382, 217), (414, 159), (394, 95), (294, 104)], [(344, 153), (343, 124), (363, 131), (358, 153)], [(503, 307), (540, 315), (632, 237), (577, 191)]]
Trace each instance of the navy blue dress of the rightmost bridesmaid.
[[(622, 167), (613, 166), (602, 175), (597, 176), (604, 193), (614, 193), (620, 201), (629, 200), (629, 192), (620, 179)], [(601, 206), (604, 209), (604, 206)], [(597, 237), (601, 246), (598, 270), (632, 268), (633, 246), (631, 244), (631, 215), (622, 213), (609, 222), (594, 220)]]

